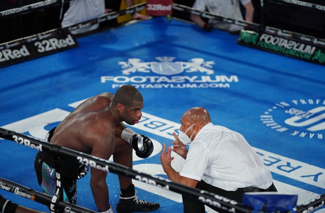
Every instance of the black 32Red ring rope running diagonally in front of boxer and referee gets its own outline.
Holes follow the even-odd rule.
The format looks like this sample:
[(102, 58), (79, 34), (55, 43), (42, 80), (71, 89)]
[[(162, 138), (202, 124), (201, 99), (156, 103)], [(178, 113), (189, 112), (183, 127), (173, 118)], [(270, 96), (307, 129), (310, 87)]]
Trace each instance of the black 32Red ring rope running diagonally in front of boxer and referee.
[(166, 178), (161, 178), (157, 176), (148, 175), (142, 172), (135, 171), (129, 167), (104, 160), (90, 154), (83, 152), (78, 152), (72, 149), (61, 147), (49, 142), (40, 141), (38, 139), (32, 138), (30, 136), (16, 133), (14, 131), (6, 130), (0, 128), (0, 138), (7, 139), (25, 146), (40, 150), (50, 152), (56, 149), (57, 155), (69, 157), (71, 159), (76, 159), (81, 163), (88, 164), (92, 168), (96, 168), (105, 172), (112, 172), (117, 175), (123, 175), (128, 178), (133, 178), (157, 187), (164, 188), (166, 190), (174, 191), (179, 194), (184, 194), (198, 200), (206, 205), (212, 205), (216, 208), (227, 210), (229, 212), (236, 213), (253, 213), (253, 209), (248, 206), (244, 206), (234, 200), (224, 198), (222, 196), (216, 195), (211, 192), (204, 190), (199, 190), (196, 188), (191, 188), (180, 183), (173, 182)]

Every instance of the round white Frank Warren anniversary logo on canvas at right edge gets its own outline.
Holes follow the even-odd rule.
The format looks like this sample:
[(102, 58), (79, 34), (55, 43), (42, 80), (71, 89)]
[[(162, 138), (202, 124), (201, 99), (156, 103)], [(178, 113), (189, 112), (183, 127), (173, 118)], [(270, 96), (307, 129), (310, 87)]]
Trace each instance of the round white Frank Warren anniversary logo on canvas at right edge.
[(275, 103), (260, 120), (265, 126), (292, 137), (324, 140), (325, 99), (300, 99)]

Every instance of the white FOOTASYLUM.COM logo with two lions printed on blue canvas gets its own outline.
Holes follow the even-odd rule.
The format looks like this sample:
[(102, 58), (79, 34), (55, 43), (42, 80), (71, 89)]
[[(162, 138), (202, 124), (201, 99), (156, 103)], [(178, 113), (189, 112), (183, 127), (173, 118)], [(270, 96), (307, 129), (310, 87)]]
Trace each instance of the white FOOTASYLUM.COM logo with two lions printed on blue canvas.
[[(136, 88), (229, 88), (239, 82), (237, 75), (215, 75), (214, 61), (193, 58), (188, 62), (174, 61), (175, 57), (156, 57), (156, 62), (138, 58), (120, 61), (122, 75), (101, 76), (101, 83), (110, 82), (112, 88), (132, 84)], [(153, 72), (157, 75), (152, 75)], [(138, 75), (135, 75), (138, 73)], [(193, 75), (194, 74), (194, 75)]]

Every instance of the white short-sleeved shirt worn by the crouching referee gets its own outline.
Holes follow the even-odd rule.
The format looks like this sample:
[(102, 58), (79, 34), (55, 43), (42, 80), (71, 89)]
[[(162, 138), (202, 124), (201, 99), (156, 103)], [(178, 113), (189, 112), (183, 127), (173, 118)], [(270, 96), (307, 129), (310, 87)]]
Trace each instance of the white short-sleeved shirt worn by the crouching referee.
[(266, 189), (273, 182), (270, 171), (241, 134), (212, 123), (190, 144), (180, 175), (226, 191), (249, 186)]

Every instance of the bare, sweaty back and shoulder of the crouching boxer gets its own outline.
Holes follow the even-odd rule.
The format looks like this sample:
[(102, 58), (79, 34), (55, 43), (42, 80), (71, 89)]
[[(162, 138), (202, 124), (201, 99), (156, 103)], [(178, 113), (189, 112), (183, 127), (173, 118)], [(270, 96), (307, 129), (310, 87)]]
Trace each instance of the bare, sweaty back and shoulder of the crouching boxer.
[(115, 124), (109, 104), (114, 95), (101, 93), (77, 106), (56, 128), (51, 143), (90, 153), (92, 137), (113, 131)]

